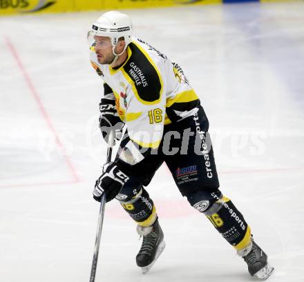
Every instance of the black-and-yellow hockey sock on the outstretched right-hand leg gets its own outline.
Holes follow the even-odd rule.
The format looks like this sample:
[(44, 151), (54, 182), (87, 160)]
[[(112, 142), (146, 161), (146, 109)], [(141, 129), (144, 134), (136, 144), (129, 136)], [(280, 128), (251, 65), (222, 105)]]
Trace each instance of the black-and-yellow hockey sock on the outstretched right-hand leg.
[(215, 193), (211, 195), (216, 199), (214, 207), (218, 208), (207, 210), (207, 218), (236, 250), (247, 247), (251, 243), (251, 230), (243, 215), (227, 197), (219, 198)]

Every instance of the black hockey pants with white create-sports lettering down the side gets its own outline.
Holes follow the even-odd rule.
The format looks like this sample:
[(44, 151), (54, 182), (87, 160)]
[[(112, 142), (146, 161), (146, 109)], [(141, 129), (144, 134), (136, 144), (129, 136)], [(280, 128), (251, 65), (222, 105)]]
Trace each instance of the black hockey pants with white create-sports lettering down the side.
[(154, 152), (134, 165), (135, 174), (120, 193), (129, 194), (140, 185), (148, 185), (163, 161), (183, 196), (196, 191), (218, 190), (218, 174), (208, 129), (209, 122), (201, 106), (196, 115), (165, 125), (157, 154)]

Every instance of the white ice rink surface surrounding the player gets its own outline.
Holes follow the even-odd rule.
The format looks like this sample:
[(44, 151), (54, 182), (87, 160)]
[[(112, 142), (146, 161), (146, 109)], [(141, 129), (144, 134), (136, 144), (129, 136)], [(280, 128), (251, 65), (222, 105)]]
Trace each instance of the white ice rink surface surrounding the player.
[[(202, 99), (221, 190), (269, 254), (271, 281), (304, 281), (304, 3), (127, 12)], [(89, 279), (106, 145), (86, 31), (100, 13), (0, 19), (1, 282)], [(148, 191), (167, 248), (141, 274), (135, 224), (108, 203), (96, 281), (253, 281), (165, 166)]]

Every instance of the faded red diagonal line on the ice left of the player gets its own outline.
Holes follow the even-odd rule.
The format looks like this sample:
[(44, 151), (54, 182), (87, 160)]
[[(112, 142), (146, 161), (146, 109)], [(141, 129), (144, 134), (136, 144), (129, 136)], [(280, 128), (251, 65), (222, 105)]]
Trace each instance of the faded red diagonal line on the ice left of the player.
[[(48, 113), (46, 112), (46, 109), (44, 108), (44, 105), (43, 105), (41, 99), (39, 98), (39, 95), (34, 87), (34, 84), (32, 83), (32, 79), (30, 79), (28, 72), (26, 72), (26, 68), (24, 68), (24, 66), (23, 66), (23, 63), (20, 59), (19, 54), (17, 53), (17, 50), (15, 49), (14, 45), (12, 44), (12, 42), (10, 41), (10, 39), (8, 37), (5, 37), (5, 39), (6, 39), (6, 45), (8, 46), (8, 49), (10, 50), (10, 52), (12, 53), (12, 56), (17, 61), (19, 69), (21, 70), (21, 73), (23, 74), (23, 78), (26, 80), (26, 83), (28, 84), (28, 88), (30, 88), (30, 93), (32, 94), (32, 97), (35, 99), (35, 101), (39, 107), (39, 110), (48, 125), (48, 128), (50, 129), (51, 132), (53, 132), (53, 134), (55, 136), (55, 141), (56, 141), (58, 148), (62, 152), (66, 152), (64, 145), (62, 145), (62, 143), (59, 139), (59, 135), (57, 134), (57, 132), (52, 124), (52, 121), (50, 120), (50, 117), (48, 116)], [(76, 170), (75, 170), (72, 162), (70, 161), (70, 158), (66, 154), (64, 154), (64, 158), (66, 160), (66, 164), (68, 165), (68, 168), (70, 169), (70, 172), (73, 174), (74, 181), (79, 182), (79, 177), (76, 173)]]

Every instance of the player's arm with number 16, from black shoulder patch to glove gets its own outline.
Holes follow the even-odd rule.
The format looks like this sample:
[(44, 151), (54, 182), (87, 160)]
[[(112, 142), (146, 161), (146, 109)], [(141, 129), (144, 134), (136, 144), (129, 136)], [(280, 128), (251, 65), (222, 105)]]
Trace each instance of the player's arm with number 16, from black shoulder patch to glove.
[[(156, 57), (153, 60), (135, 42), (130, 44), (130, 49), (131, 57), (121, 70), (128, 86), (119, 96), (115, 93), (120, 102), (117, 101), (117, 105), (124, 105), (122, 117), (128, 138), (122, 141), (115, 161), (104, 165), (94, 190), (97, 201), (103, 192), (107, 201), (111, 201), (129, 177), (138, 174), (140, 163), (160, 147), (164, 132), (166, 95), (159, 68), (162, 61)], [(120, 113), (120, 108), (117, 110)]]

